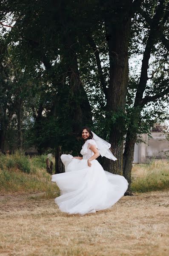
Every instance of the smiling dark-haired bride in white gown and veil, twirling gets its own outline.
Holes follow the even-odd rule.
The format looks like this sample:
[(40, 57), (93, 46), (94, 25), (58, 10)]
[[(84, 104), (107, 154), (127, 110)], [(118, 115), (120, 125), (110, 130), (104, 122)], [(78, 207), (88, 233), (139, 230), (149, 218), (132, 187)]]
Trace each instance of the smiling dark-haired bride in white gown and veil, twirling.
[(60, 189), (60, 196), (54, 199), (59, 209), (84, 215), (111, 207), (124, 195), (128, 182), (121, 175), (104, 171), (96, 160), (100, 155), (117, 160), (108, 142), (88, 127), (83, 127), (81, 136), (84, 144), (80, 154), (83, 157), (62, 154), (65, 173), (52, 175), (52, 181)]

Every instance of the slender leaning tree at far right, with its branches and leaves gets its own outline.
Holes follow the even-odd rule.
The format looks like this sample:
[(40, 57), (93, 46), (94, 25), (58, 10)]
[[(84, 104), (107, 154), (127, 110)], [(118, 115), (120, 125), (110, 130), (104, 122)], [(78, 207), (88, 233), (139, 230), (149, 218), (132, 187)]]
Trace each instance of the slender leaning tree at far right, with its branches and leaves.
[[(152, 12), (150, 13), (148, 6), (150, 6), (150, 8), (152, 7)], [(123, 154), (123, 175), (127, 178), (129, 183), (131, 183), (134, 146), (137, 142), (137, 134), (140, 133), (141, 123), (143, 122), (143, 110), (145, 107), (148, 107), (151, 102), (157, 104), (158, 99), (163, 100), (163, 102), (169, 99), (169, 72), (164, 68), (165, 64), (168, 62), (169, 51), (169, 41), (165, 37), (169, 29), (169, 3), (165, 0), (161, 0), (160, 2), (155, 1), (154, 6), (143, 3), (139, 8), (139, 15), (143, 17), (143, 20), (141, 20), (140, 17), (138, 17), (138, 20), (143, 24), (143, 29), (148, 30), (148, 32), (144, 32), (141, 72), (135, 87), (134, 104), (131, 109), (131, 117), (126, 134), (125, 151)], [(163, 51), (162, 56), (161, 51)], [(153, 67), (152, 65), (150, 68), (149, 63), (151, 61), (151, 55), (155, 58), (156, 66)], [(160, 72), (158, 72), (158, 68), (161, 64), (163, 67), (161, 67)], [(149, 73), (151, 72), (153, 75), (149, 77)], [(151, 82), (149, 82), (149, 79), (151, 79)], [(156, 106), (156, 109), (157, 108)]]

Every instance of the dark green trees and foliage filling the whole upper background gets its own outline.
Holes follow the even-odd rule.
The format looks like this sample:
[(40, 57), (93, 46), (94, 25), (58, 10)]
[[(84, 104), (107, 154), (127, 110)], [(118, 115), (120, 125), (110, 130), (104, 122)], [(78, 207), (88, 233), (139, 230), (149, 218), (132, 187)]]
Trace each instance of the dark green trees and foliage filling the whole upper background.
[(141, 134), (168, 118), (168, 14), (168, 0), (3, 0), (1, 150), (14, 129), (11, 146), (79, 154), (77, 131), (90, 125), (113, 144), (113, 168), (122, 156), (132, 168)]

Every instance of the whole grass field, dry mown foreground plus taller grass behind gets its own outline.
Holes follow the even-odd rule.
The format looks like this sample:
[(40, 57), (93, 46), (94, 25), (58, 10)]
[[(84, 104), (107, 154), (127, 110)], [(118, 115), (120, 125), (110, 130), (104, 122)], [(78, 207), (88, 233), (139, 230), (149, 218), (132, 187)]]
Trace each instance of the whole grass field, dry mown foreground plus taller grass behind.
[(84, 216), (59, 211), (45, 161), (0, 155), (0, 256), (169, 255), (167, 161), (134, 165), (134, 196)]

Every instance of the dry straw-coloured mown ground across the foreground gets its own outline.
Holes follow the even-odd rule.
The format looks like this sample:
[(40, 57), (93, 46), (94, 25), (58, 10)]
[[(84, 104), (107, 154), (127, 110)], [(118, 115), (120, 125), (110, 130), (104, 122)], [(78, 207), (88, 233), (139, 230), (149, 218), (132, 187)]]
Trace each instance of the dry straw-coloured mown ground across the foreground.
[(168, 256), (169, 191), (126, 196), (84, 216), (41, 193), (0, 195), (1, 256)]

